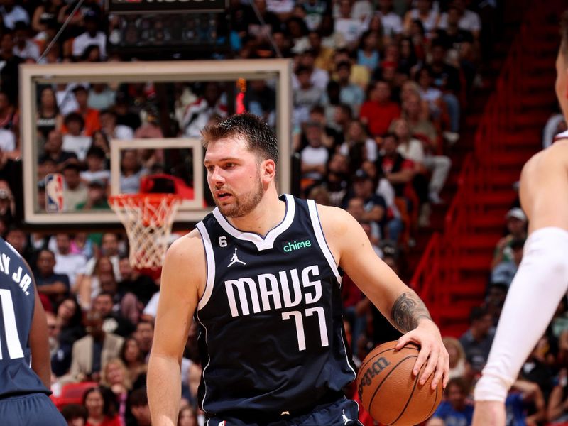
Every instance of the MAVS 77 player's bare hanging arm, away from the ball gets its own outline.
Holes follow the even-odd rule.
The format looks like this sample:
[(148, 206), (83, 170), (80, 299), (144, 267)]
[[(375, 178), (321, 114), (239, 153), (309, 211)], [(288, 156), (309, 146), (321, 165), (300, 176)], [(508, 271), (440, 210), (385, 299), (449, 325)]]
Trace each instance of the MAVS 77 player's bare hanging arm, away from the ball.
[(197, 230), (176, 240), (162, 268), (160, 301), (148, 362), (152, 424), (175, 425), (181, 398), (181, 359), (204, 285), (204, 249)]

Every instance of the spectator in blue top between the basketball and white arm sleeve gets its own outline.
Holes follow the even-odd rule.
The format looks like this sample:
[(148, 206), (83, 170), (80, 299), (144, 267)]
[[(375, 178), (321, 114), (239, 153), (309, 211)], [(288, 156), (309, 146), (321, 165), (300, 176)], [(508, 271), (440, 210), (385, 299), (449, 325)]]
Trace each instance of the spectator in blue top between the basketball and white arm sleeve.
[(474, 405), (466, 399), (469, 395), (466, 381), (461, 377), (451, 378), (446, 385), (444, 395), (446, 400), (438, 406), (426, 426), (471, 425)]

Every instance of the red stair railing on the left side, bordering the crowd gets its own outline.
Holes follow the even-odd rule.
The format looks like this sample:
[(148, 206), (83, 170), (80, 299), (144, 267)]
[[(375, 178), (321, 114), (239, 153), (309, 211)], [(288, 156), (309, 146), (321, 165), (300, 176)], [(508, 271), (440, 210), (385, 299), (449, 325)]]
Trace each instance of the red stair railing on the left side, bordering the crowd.
[[(498, 165), (488, 159), (503, 152), (500, 134), (514, 130), (522, 101), (522, 76), (531, 66), (530, 59), (534, 54), (530, 43), (532, 28), (542, 25), (544, 20), (540, 9), (545, 8), (532, 4), (532, 11), (527, 13), (528, 21), (523, 23), (513, 41), (496, 90), (491, 94), (476, 130), (474, 153), (466, 156), (461, 168), (458, 190), (445, 217), (444, 233), (432, 235), (410, 281), (429, 305), (442, 307), (450, 302), (452, 284), (459, 282), (459, 260), (464, 256), (464, 246), (459, 241), (471, 232), (471, 218), (485, 214), (484, 206), (471, 200), (474, 194), (491, 189), (492, 171)], [(444, 261), (440, 262), (442, 255)], [(435, 309), (434, 312), (442, 315), (443, 310)]]

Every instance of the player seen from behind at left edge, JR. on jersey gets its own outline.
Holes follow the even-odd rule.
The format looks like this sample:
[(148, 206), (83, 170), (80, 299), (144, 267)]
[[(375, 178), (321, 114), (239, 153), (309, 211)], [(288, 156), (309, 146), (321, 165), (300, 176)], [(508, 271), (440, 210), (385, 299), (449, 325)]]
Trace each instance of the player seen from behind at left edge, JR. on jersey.
[(67, 425), (48, 398), (45, 312), (28, 263), (0, 238), (0, 423)]

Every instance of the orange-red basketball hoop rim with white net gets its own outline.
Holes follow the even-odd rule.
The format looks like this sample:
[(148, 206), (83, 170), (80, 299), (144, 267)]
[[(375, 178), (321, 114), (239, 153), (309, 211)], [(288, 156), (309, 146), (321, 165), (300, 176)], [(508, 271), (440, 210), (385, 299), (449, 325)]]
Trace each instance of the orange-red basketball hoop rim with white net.
[(160, 268), (168, 250), (173, 218), (182, 197), (175, 194), (120, 194), (109, 197), (129, 237), (133, 268)]

